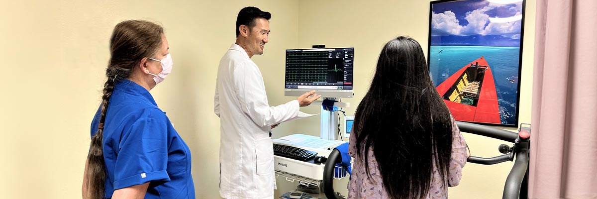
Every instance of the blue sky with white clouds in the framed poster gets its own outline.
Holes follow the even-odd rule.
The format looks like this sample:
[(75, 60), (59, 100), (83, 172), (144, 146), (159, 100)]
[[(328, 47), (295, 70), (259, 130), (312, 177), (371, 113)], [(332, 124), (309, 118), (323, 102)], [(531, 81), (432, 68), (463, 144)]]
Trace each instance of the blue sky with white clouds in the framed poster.
[(432, 45), (520, 45), (521, 0), (443, 2), (432, 12)]

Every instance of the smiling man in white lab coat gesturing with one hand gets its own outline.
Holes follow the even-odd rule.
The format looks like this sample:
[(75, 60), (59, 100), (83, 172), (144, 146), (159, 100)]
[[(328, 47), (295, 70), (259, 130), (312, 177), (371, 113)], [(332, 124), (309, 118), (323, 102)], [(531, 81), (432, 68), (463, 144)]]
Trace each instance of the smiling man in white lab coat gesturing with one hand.
[(268, 105), (263, 76), (251, 57), (263, 54), (270, 17), (259, 8), (243, 8), (236, 19), (236, 43), (220, 60), (214, 112), (220, 117), (223, 198), (273, 198), (270, 128), (297, 117), (300, 106), (320, 97), (310, 91), (283, 105)]

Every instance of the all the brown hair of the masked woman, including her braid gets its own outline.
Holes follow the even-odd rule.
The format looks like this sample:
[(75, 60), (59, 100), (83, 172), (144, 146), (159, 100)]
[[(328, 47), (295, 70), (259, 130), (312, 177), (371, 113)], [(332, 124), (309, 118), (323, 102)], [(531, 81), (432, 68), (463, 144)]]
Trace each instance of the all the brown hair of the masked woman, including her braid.
[(107, 108), (116, 83), (130, 78), (133, 68), (144, 57), (152, 57), (162, 45), (162, 26), (145, 20), (127, 20), (114, 27), (110, 38), (110, 61), (106, 68), (106, 83), (101, 97), (100, 123), (97, 133), (91, 137), (87, 156), (87, 197), (104, 198), (106, 167), (104, 164), (103, 137)]

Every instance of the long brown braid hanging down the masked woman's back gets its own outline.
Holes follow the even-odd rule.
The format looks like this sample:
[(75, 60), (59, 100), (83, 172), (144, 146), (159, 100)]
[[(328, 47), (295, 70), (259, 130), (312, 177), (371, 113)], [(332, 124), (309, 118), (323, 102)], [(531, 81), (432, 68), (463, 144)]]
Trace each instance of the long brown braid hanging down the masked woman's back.
[(110, 102), (110, 96), (114, 91), (116, 75), (112, 75), (110, 68), (106, 69), (106, 76), (108, 76), (104, 84), (103, 96), (101, 97), (101, 117), (100, 124), (97, 127), (97, 133), (91, 137), (91, 146), (87, 159), (89, 160), (87, 172), (87, 189), (88, 199), (104, 198), (104, 186), (106, 183), (106, 167), (104, 166), (104, 122), (106, 121), (106, 112)]

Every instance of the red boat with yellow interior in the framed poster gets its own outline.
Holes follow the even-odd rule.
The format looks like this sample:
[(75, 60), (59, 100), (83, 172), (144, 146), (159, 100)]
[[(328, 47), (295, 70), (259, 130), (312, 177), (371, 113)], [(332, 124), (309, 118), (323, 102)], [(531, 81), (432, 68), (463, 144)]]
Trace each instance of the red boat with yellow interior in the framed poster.
[(496, 82), (487, 60), (465, 65), (436, 87), (458, 121), (501, 124)]

